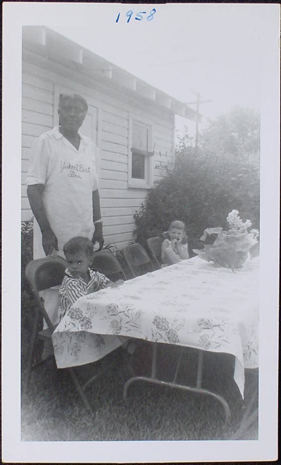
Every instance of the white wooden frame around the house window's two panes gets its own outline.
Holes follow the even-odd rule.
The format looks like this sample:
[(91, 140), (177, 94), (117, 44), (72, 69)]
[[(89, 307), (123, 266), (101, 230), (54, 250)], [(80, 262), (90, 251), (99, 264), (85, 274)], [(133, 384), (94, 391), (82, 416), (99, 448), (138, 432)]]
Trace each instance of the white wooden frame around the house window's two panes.
[[(148, 129), (147, 131), (147, 151), (133, 147), (133, 123), (140, 124)], [(133, 151), (138, 155), (145, 157), (144, 179), (132, 177), (132, 159)], [(153, 185), (153, 152), (152, 152), (152, 124), (141, 121), (140, 119), (129, 117), (129, 153), (128, 153), (128, 187), (135, 189), (150, 189)]]

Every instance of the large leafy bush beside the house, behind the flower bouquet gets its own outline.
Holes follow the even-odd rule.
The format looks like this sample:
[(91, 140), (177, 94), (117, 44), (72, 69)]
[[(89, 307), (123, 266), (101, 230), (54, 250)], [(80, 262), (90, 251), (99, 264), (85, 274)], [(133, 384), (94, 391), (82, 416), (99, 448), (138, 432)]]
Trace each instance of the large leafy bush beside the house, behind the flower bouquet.
[(186, 134), (176, 149), (175, 165), (151, 189), (135, 214), (136, 241), (166, 231), (182, 220), (193, 247), (205, 228), (227, 227), (236, 209), (259, 229), (259, 114), (235, 108), (210, 122), (198, 149)]

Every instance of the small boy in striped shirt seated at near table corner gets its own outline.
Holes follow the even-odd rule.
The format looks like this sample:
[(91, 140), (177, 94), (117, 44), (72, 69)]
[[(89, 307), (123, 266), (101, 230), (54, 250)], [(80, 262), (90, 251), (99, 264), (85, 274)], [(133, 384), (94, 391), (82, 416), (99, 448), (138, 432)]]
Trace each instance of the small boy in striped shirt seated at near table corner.
[(120, 280), (118, 283), (113, 283), (104, 274), (90, 269), (93, 250), (91, 240), (80, 236), (73, 237), (63, 246), (68, 267), (59, 290), (61, 317), (79, 297), (106, 287), (115, 287), (123, 282)]

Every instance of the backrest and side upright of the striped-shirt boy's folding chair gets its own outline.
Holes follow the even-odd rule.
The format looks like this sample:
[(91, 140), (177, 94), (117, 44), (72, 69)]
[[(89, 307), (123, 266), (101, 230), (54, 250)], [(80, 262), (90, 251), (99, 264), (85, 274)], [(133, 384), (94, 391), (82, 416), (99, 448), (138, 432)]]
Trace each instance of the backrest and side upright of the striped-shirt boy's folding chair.
[(25, 268), (25, 276), (28, 284), (34, 294), (40, 312), (50, 329), (53, 328), (53, 325), (45, 310), (44, 302), (39, 292), (53, 286), (59, 286), (62, 283), (66, 266), (66, 261), (62, 257), (56, 255), (32, 260), (27, 263)]

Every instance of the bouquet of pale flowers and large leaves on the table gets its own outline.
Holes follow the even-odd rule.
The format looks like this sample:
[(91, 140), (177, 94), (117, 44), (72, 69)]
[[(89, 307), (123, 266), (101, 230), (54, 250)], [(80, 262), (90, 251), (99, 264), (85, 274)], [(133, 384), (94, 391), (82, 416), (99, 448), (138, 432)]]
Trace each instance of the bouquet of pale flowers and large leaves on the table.
[(231, 268), (241, 268), (248, 258), (249, 250), (258, 243), (258, 230), (248, 230), (252, 223), (250, 220), (243, 222), (238, 210), (232, 210), (227, 216), (229, 230), (222, 228), (207, 228), (200, 240), (205, 241), (209, 234), (217, 234), (212, 245), (204, 245), (202, 250), (193, 250), (200, 258), (213, 261), (217, 265)]

